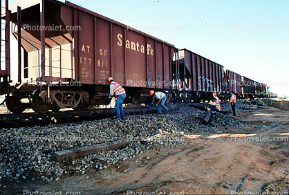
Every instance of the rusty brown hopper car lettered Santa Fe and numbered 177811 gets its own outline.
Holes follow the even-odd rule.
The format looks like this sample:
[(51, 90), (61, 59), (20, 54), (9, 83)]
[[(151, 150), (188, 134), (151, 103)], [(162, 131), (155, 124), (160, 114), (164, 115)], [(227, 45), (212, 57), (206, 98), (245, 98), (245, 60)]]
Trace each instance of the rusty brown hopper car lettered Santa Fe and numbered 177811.
[[(32, 100), (33, 93), (39, 97), (30, 106), (38, 112), (108, 104), (110, 76), (127, 90), (127, 102), (145, 102), (150, 89), (174, 89), (171, 67), (176, 48), (165, 41), (68, 1), (21, 0), (10, 8), (12, 33), (17, 38), (20, 32), (24, 49), (19, 76), (24, 84), (8, 97), (10, 106), (21, 98)], [(46, 88), (34, 92), (37, 87), (31, 81), (45, 82)], [(16, 113), (27, 107), (10, 110)]]

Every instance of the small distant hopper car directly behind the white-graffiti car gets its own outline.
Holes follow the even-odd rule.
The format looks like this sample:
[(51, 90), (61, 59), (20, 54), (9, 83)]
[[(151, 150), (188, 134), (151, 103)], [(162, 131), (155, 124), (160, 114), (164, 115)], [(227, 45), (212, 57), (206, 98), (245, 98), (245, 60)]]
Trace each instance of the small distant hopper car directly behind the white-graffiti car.
[(230, 70), (225, 70), (225, 93), (233, 92), (236, 95), (241, 94), (241, 75)]

